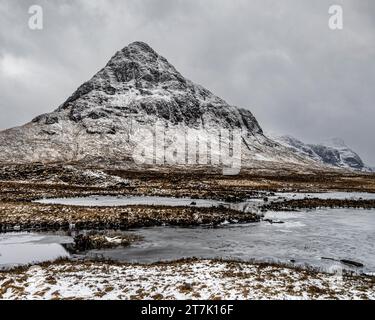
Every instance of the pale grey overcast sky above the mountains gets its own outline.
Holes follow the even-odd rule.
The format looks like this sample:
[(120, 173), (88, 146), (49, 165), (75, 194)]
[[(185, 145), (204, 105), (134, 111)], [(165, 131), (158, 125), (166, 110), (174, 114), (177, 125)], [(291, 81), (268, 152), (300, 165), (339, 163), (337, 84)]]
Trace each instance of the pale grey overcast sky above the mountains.
[[(28, 27), (32, 4), (43, 30)], [(343, 30), (328, 27), (332, 4)], [(375, 166), (373, 0), (1, 0), (0, 129), (54, 110), (136, 40), (265, 131), (341, 137)]]

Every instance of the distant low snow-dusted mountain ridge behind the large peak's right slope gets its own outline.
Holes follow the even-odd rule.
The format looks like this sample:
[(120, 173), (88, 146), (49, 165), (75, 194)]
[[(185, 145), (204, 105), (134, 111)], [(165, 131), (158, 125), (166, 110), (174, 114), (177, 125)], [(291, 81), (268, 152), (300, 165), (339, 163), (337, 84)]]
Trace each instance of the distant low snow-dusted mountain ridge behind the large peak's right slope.
[(333, 167), (371, 171), (365, 166), (360, 156), (340, 138), (333, 138), (321, 144), (306, 144), (292, 136), (272, 136), (272, 139), (293, 149), (301, 156)]

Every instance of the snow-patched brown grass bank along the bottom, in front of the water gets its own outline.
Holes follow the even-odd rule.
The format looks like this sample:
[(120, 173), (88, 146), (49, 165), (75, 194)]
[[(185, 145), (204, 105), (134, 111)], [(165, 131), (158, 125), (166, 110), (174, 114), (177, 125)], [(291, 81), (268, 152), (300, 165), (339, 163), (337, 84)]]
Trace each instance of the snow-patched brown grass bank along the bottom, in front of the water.
[(375, 299), (374, 277), (238, 262), (69, 262), (0, 272), (2, 299)]

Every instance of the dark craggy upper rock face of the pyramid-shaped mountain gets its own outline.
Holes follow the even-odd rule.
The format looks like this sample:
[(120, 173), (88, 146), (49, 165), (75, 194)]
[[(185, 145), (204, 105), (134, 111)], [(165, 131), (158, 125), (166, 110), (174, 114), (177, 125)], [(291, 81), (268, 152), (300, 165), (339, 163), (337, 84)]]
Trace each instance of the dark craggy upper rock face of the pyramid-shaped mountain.
[[(121, 106), (113, 100), (121, 95), (134, 99)], [(92, 109), (95, 111), (85, 112)], [(150, 46), (134, 42), (118, 51), (90, 81), (80, 86), (58, 111), (69, 110), (73, 122), (99, 119), (104, 106), (118, 108), (118, 116), (134, 112), (188, 127), (223, 124), (228, 128), (262, 130), (248, 110), (228, 105), (203, 87), (185, 79)], [(207, 118), (207, 119), (205, 119)]]

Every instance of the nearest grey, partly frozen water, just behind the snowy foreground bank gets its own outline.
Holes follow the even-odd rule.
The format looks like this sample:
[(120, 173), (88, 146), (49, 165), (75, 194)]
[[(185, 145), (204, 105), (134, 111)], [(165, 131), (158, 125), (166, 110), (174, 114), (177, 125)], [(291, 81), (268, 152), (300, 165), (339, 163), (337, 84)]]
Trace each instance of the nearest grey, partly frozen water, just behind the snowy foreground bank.
[[(284, 223), (223, 225), (217, 228), (153, 227), (126, 231), (143, 237), (127, 248), (91, 250), (89, 257), (150, 263), (184, 257), (283, 262), (329, 271), (350, 269), (341, 259), (364, 264), (359, 272), (375, 273), (375, 210), (319, 209), (268, 212), (265, 218)], [(0, 266), (68, 257), (63, 234), (0, 234)], [(322, 259), (331, 258), (334, 260)]]

